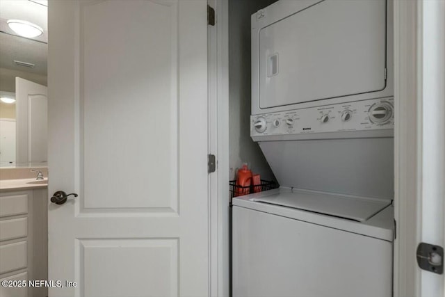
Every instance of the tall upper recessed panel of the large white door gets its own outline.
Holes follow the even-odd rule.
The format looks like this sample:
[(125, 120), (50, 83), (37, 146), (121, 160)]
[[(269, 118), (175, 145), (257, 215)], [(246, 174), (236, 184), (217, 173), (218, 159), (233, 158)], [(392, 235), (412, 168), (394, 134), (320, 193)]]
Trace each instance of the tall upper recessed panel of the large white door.
[[(137, 13), (131, 15), (125, 15), (125, 5), (101, 1), (80, 8), (79, 212), (129, 214), (128, 209), (137, 209), (147, 216), (171, 216), (179, 212), (177, 2), (136, 1)], [(137, 24), (131, 27), (135, 32), (125, 28), (127, 18)], [(115, 63), (120, 55), (132, 60)], [(97, 75), (102, 71), (110, 75)], [(114, 88), (100, 88), (110, 81)], [(113, 171), (114, 180), (98, 179), (104, 171)], [(126, 199), (113, 200), (111, 193)]]

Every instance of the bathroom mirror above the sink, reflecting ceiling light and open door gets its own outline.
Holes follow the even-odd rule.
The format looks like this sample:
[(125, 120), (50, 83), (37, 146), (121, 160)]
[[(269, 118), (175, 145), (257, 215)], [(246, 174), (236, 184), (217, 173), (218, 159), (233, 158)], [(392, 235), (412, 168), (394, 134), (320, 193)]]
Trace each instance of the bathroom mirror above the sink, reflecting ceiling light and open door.
[[(40, 35), (18, 31), (13, 20), (34, 24)], [(16, 101), (0, 102), (0, 167), (46, 166), (47, 98), (32, 86), (46, 90), (47, 51), (47, 1), (1, 0), (0, 97)]]

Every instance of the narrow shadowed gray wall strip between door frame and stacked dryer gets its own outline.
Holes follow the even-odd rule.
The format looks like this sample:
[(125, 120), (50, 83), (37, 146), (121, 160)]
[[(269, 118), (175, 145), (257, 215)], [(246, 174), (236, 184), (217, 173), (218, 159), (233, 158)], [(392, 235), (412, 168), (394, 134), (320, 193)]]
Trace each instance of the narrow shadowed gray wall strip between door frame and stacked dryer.
[(250, 16), (277, 0), (229, 0), (230, 179), (248, 162), (261, 179), (275, 179), (257, 143), (250, 138)]

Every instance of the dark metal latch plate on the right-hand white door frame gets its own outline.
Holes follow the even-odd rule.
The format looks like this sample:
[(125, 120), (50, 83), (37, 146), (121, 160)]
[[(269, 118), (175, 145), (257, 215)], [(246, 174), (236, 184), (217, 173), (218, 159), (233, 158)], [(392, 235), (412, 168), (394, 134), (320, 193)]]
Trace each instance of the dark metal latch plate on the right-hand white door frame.
[(416, 252), (419, 267), (432, 273), (444, 273), (444, 248), (433, 244), (419, 243)]

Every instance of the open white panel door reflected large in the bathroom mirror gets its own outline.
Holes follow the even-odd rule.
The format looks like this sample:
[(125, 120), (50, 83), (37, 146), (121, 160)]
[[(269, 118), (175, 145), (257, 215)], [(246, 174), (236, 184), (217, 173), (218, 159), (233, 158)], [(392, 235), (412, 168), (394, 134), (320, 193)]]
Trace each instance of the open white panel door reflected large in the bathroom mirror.
[(17, 165), (47, 161), (48, 90), (33, 81), (15, 78)]

